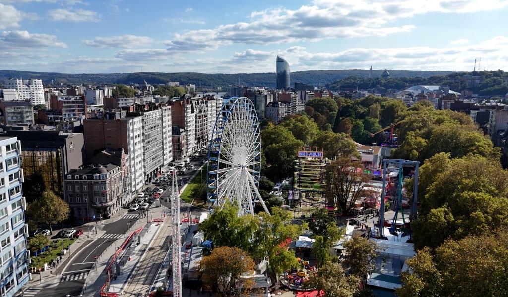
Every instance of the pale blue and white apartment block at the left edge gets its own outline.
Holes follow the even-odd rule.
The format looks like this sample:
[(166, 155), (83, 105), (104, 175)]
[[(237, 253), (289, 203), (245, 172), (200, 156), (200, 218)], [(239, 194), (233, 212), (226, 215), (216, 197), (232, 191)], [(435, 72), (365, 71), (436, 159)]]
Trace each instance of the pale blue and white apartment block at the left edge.
[(16, 137), (0, 136), (0, 257), (2, 265), (0, 295), (11, 297), (30, 278), (25, 224), (26, 209), (21, 183), (20, 142)]

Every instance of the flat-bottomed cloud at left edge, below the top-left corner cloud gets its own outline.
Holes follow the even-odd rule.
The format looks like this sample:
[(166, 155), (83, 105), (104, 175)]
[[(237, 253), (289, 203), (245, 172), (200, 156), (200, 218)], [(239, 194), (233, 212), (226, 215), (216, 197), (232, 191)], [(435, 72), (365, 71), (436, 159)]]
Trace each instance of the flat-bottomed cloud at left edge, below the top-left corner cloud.
[(66, 48), (67, 44), (58, 41), (55, 35), (50, 34), (29, 33), (20, 30), (3, 31), (0, 34), (0, 49), (39, 49), (43, 47)]

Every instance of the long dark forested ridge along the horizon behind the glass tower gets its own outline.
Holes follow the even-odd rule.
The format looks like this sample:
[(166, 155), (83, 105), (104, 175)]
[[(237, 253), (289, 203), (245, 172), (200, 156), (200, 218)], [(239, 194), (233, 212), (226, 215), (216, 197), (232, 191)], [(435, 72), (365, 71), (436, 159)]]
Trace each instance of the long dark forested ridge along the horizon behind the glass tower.
[[(416, 71), (389, 70), (392, 78), (444, 76), (453, 71)], [(373, 77), (380, 77), (383, 70), (373, 70)], [(294, 82), (324, 86), (347, 77), (368, 78), (369, 70), (307, 70), (291, 73), (291, 85)], [(9, 78), (41, 79), (43, 83), (54, 84), (142, 84), (145, 80), (149, 84), (164, 84), (176, 81), (180, 84), (196, 84), (201, 87), (217, 87), (238, 84), (246, 86), (275, 87), (275, 73), (199, 73), (199, 72), (135, 72), (135, 73), (58, 73), (33, 72), (17, 70), (0, 70), (0, 81)]]

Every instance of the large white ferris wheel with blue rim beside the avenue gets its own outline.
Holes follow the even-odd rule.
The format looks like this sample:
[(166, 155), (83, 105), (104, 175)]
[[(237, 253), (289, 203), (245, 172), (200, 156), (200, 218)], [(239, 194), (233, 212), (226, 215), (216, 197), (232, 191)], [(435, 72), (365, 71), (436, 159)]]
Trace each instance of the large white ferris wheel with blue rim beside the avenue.
[(246, 97), (224, 101), (208, 150), (207, 195), (210, 210), (236, 203), (238, 215), (253, 214), (259, 202), (261, 133), (256, 108)]

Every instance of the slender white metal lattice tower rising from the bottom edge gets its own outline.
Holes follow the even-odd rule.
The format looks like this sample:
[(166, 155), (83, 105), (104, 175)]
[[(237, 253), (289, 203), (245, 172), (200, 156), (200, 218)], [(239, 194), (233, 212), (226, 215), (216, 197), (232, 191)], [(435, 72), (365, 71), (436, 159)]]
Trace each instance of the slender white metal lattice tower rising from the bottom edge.
[(181, 271), (181, 240), (180, 240), (180, 197), (178, 197), (178, 182), (176, 169), (171, 172), (171, 269), (173, 276), (173, 296), (182, 297)]

